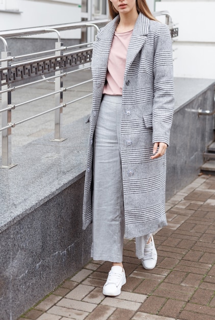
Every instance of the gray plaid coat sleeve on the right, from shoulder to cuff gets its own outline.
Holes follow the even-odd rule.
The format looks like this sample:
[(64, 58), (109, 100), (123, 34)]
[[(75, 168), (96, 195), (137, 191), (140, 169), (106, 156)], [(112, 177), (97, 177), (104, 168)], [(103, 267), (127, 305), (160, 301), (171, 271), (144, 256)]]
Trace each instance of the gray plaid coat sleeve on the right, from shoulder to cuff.
[(170, 144), (174, 111), (172, 39), (168, 26), (160, 24), (154, 39), (153, 143)]

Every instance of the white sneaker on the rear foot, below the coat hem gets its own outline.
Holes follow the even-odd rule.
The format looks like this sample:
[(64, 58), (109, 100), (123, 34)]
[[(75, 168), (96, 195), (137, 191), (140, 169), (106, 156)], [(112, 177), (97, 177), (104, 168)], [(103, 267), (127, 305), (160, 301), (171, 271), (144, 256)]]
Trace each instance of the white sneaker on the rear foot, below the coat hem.
[(153, 236), (151, 236), (151, 242), (146, 244), (144, 248), (144, 256), (141, 259), (144, 269), (151, 270), (157, 263), (157, 251), (154, 245)]

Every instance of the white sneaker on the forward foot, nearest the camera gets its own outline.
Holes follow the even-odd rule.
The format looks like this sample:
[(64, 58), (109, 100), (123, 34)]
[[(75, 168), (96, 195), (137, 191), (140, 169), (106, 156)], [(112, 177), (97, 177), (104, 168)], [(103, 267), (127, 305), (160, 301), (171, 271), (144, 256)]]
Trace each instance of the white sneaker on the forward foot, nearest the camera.
[(125, 271), (120, 266), (113, 266), (109, 271), (107, 281), (103, 286), (104, 295), (119, 295), (121, 287), (126, 283)]

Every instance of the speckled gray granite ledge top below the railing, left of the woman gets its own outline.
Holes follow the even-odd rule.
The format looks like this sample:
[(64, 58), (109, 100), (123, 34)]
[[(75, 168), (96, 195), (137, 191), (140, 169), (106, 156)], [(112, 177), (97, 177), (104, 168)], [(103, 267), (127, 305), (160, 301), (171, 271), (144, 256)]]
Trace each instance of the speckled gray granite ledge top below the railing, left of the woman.
[(0, 169), (0, 232), (34, 211), (85, 174), (89, 124), (86, 117), (13, 150), (12, 169)]

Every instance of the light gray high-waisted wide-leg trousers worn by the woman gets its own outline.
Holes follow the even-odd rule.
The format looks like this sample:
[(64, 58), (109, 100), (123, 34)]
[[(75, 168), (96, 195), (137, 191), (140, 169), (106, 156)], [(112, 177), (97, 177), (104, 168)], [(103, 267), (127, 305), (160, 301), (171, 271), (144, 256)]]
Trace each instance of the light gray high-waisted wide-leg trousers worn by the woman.
[[(93, 177), (94, 260), (122, 262), (124, 238), (121, 170), (122, 96), (104, 95), (95, 129)], [(150, 234), (136, 238), (136, 255), (143, 258)]]

